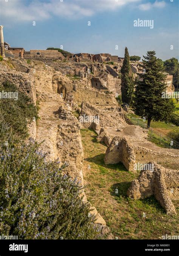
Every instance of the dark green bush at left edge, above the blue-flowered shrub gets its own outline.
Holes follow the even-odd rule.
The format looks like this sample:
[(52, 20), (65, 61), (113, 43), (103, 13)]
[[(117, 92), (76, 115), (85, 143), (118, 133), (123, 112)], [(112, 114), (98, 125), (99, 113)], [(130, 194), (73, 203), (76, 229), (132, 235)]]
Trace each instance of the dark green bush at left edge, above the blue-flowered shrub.
[(0, 91), (18, 92), (17, 101), (14, 99), (0, 99), (0, 138), (1, 141), (13, 139), (14, 142), (28, 137), (28, 122), (38, 118), (37, 108), (31, 99), (9, 83), (0, 85)]

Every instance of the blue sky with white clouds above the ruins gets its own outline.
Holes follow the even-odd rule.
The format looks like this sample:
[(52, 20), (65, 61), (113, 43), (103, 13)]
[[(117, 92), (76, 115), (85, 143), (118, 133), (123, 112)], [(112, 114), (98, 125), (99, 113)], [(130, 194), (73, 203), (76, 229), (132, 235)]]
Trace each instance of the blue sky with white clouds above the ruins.
[[(73, 53), (123, 57), (127, 46), (130, 55), (155, 50), (162, 60), (179, 58), (178, 0), (61, 1), (0, 0), (5, 41), (25, 50), (63, 45)], [(154, 28), (134, 27), (137, 19), (154, 20)]]

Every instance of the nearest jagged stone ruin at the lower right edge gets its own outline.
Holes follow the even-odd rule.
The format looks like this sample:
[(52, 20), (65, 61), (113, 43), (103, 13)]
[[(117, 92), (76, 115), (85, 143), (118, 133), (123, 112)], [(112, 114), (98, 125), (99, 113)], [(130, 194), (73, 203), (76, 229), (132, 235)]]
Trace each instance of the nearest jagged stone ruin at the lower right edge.
[(172, 200), (179, 200), (179, 171), (156, 163), (153, 166), (152, 170), (140, 172), (139, 178), (132, 181), (127, 195), (135, 200), (154, 195), (167, 214), (176, 214)]

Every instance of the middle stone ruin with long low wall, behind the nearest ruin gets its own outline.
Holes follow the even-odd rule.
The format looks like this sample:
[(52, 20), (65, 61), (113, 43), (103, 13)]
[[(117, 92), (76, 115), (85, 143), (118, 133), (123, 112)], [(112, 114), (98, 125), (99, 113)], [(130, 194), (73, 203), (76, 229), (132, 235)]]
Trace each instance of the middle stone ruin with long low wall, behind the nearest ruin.
[[(123, 129), (125, 132), (125, 127)], [(145, 140), (145, 133), (143, 133), (143, 138), (142, 135), (137, 137), (132, 130), (135, 130), (135, 126), (131, 126), (131, 136), (122, 136), (123, 131), (119, 132), (121, 136), (114, 136), (117, 132), (112, 134), (112, 130), (109, 133), (109, 129), (104, 129), (100, 133), (98, 140), (108, 145), (104, 159), (106, 164), (122, 162), (128, 171), (134, 173), (136, 172), (134, 166), (137, 163), (146, 164), (152, 161), (163, 166), (168, 163), (176, 168), (179, 158), (178, 149), (159, 148)], [(139, 131), (142, 132), (142, 129)]]

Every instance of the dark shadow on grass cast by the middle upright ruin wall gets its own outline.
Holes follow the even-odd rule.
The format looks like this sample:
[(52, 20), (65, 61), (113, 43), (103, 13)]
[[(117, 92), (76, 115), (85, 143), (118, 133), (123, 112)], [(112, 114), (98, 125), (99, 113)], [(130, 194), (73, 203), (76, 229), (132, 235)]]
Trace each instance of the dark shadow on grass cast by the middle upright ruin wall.
[(96, 163), (97, 165), (100, 165), (107, 169), (116, 170), (116, 171), (127, 171), (123, 163), (114, 163), (114, 164), (105, 165), (104, 157), (105, 157), (105, 154), (99, 154), (99, 155), (95, 155), (94, 157), (87, 157), (84, 160), (88, 162)]

